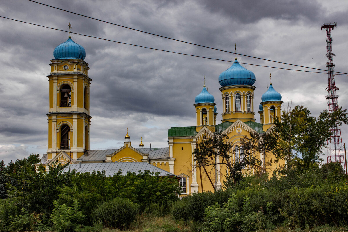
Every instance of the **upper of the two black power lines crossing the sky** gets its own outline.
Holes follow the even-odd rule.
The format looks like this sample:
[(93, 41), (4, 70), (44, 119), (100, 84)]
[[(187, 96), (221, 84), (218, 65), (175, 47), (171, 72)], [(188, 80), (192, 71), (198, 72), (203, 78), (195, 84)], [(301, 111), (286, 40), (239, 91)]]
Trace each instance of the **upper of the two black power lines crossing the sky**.
[[(159, 34), (155, 34), (155, 33), (150, 33), (150, 32), (146, 32), (146, 31), (134, 29), (132, 27), (127, 27), (127, 26), (123, 26), (123, 25), (120, 25), (120, 24), (111, 23), (111, 22), (108, 22), (108, 21), (104, 21), (102, 19), (97, 19), (97, 18), (93, 18), (93, 17), (87, 16), (87, 15), (82, 15), (82, 14), (79, 14), (79, 13), (75, 13), (73, 11), (64, 10), (62, 8), (50, 6), (50, 5), (41, 3), (41, 2), (37, 2), (37, 1), (33, 1), (33, 0), (28, 0), (28, 1), (31, 1), (31, 2), (34, 2), (34, 3), (38, 3), (40, 5), (44, 5), (44, 6), (47, 6), (47, 7), (51, 7), (51, 8), (57, 9), (57, 10), (62, 10), (62, 11), (65, 11), (65, 12), (68, 12), (68, 13), (71, 13), (71, 14), (74, 14), (74, 15), (79, 15), (79, 16), (82, 16), (82, 17), (90, 18), (90, 19), (93, 19), (93, 20), (96, 20), (96, 21), (100, 21), (100, 22), (103, 22), (103, 23), (108, 23), (108, 24), (111, 24), (111, 25), (124, 27), (124, 28), (129, 29), (129, 30), (138, 31), (138, 32), (142, 32), (142, 33), (150, 34), (150, 35), (155, 35), (157, 37), (161, 37), (161, 38), (164, 38), (164, 39), (174, 40), (174, 41), (178, 41), (178, 42), (182, 42), (182, 43), (187, 43), (187, 44), (190, 44), (190, 45), (195, 45), (195, 46), (199, 46), (199, 47), (203, 47), (203, 48), (209, 48), (209, 49), (213, 49), (213, 50), (216, 50), (216, 51), (223, 51), (223, 52), (226, 52), (226, 53), (232, 53), (232, 54), (236, 54), (236, 55), (240, 55), (240, 56), (246, 56), (246, 57), (250, 57), (250, 58), (261, 59), (263, 61), (270, 61), (270, 62), (275, 62), (275, 63), (279, 63), (279, 64), (292, 65), (292, 66), (296, 66), (296, 67), (303, 67), (303, 68), (306, 68), (306, 69), (315, 69), (315, 70), (320, 70), (320, 71), (327, 71), (325, 69), (317, 69), (317, 68), (313, 68), (313, 67), (307, 67), (307, 66), (302, 66), (302, 65), (290, 64), (290, 63), (285, 63), (285, 62), (280, 62), (280, 61), (273, 61), (273, 60), (270, 60), (270, 59), (264, 59), (264, 58), (255, 57), (255, 56), (248, 56), (248, 55), (244, 55), (244, 54), (235, 53), (233, 51), (226, 51), (226, 50), (222, 50), (222, 49), (218, 49), (218, 48), (213, 48), (213, 47), (208, 47), (208, 46), (204, 46), (204, 45), (199, 45), (197, 43), (191, 43), (191, 42), (187, 42), (187, 41), (183, 41), (183, 40), (178, 40), (178, 39), (166, 37), (166, 36), (163, 36), (163, 35), (159, 35)], [(269, 67), (269, 66), (264, 66), (264, 67)], [(292, 69), (289, 69), (289, 70), (292, 70)], [(335, 73), (343, 73), (343, 72), (335, 72)], [(343, 73), (343, 74), (347, 74), (347, 73)]]

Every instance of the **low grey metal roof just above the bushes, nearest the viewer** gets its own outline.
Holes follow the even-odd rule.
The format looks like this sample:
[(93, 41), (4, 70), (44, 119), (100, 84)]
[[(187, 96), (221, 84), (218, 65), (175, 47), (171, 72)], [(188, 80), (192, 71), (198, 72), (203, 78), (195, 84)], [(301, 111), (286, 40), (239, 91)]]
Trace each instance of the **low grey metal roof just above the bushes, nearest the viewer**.
[(149, 170), (153, 173), (159, 172), (160, 176), (175, 176), (172, 173), (169, 173), (168, 171), (165, 171), (163, 169), (160, 169), (158, 167), (155, 167), (153, 165), (150, 165), (150, 163), (145, 162), (104, 162), (104, 163), (74, 163), (70, 164), (68, 167), (64, 168), (64, 171), (68, 170), (76, 170), (79, 173), (92, 173), (92, 171), (100, 171), (102, 172), (105, 170), (106, 176), (113, 176), (118, 172), (118, 170), (122, 170), (121, 175), (126, 175), (128, 171), (134, 172), (135, 174), (138, 173), (140, 170), (141, 172), (145, 170)]

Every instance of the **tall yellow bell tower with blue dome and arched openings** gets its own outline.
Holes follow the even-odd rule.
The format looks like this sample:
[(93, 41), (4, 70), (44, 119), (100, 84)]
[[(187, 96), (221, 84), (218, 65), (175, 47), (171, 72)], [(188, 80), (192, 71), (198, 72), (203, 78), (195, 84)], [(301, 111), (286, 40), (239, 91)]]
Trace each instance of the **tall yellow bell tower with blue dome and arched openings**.
[[(69, 28), (70, 23), (69, 23)], [(70, 34), (70, 33), (69, 33)], [(88, 64), (85, 49), (69, 39), (54, 49), (49, 64), (48, 160), (64, 151), (71, 159), (90, 149)]]

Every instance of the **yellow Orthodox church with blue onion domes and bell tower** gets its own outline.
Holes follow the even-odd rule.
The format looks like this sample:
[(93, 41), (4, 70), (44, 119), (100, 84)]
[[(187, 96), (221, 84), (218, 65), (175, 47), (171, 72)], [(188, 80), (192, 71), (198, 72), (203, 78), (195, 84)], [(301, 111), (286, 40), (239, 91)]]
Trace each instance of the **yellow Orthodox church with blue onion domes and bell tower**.
[[(182, 195), (194, 191), (213, 191), (205, 173), (199, 173), (192, 155), (196, 144), (204, 135), (222, 131), (233, 144), (232, 158), (243, 155), (240, 139), (250, 132), (268, 133), (272, 129), (274, 118), (280, 116), (282, 96), (272, 87), (262, 95), (258, 107), (261, 123), (255, 122), (254, 90), (255, 74), (234, 63), (219, 75), (221, 100), (223, 103), (222, 122), (216, 123), (217, 109), (215, 98), (206, 87), (196, 96), (192, 110), (196, 111), (196, 125), (189, 127), (171, 127), (168, 129), (168, 147), (144, 148), (132, 146), (128, 130), (124, 146), (111, 150), (90, 150), (90, 110), (89, 91), (92, 79), (88, 76), (88, 64), (85, 62), (85, 49), (75, 43), (71, 37), (58, 45), (53, 52), (54, 59), (49, 64), (49, 109), (48, 150), (40, 165), (46, 167), (58, 161), (70, 163), (77, 171), (106, 170), (106, 175), (122, 169), (160, 171), (161, 175), (180, 177)], [(272, 154), (260, 154), (266, 165)], [(271, 171), (274, 166), (268, 166)], [(111, 170), (111, 171), (110, 171)], [(117, 172), (116, 170), (116, 172)], [(214, 187), (222, 186), (226, 167), (217, 165), (210, 177)], [(250, 172), (254, 170), (248, 170)], [(202, 186), (203, 185), (203, 186)]]

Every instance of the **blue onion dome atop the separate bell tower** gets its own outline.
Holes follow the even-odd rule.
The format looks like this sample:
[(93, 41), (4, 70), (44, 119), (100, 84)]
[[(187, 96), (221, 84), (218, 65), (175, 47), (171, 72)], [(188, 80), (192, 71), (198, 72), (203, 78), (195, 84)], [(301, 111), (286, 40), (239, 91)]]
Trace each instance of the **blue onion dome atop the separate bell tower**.
[(69, 37), (68, 40), (54, 49), (53, 55), (55, 59), (85, 59), (86, 51), (84, 47), (78, 45)]

